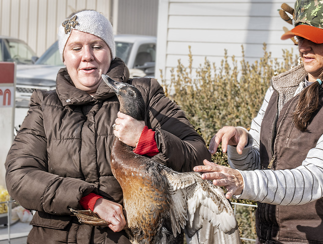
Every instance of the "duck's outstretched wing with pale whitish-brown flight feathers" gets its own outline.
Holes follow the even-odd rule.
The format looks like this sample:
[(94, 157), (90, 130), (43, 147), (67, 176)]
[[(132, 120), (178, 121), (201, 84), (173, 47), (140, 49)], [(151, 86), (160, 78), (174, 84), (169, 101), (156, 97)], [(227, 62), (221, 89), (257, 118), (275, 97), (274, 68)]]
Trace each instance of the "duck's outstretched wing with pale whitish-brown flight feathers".
[(223, 190), (196, 172), (179, 173), (166, 169), (170, 183), (172, 231), (185, 230), (188, 243), (240, 243), (231, 203)]

